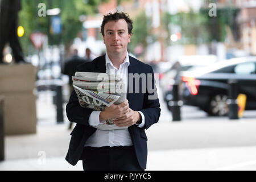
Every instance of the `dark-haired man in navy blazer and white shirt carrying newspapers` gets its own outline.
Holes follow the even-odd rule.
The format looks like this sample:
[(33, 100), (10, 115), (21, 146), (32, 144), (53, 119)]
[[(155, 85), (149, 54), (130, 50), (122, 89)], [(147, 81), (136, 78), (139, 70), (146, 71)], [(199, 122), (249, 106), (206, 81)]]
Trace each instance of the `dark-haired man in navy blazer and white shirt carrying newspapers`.
[[(132, 28), (132, 21), (125, 13), (105, 15), (101, 34), (106, 45), (106, 55), (77, 67), (80, 72), (110, 73), (114, 70), (116, 74), (122, 75), (129, 87), (126, 101), (119, 105), (106, 106), (104, 111), (81, 107), (73, 90), (66, 111), (69, 121), (77, 124), (71, 133), (66, 160), (72, 165), (82, 160), (84, 170), (146, 168), (147, 137), (144, 129), (158, 122), (160, 105), (157, 97), (149, 99), (154, 93), (141, 92), (142, 81), (139, 81), (139, 85), (130, 85), (131, 79), (128, 80), (128, 73), (151, 74), (150, 80), (145, 82), (150, 82), (152, 87), (155, 87), (152, 68), (127, 53)], [(139, 93), (134, 92), (136, 86), (139, 86)], [(130, 93), (130, 90), (133, 92)], [(111, 118), (117, 118), (115, 125), (128, 128), (105, 131), (92, 127)]]

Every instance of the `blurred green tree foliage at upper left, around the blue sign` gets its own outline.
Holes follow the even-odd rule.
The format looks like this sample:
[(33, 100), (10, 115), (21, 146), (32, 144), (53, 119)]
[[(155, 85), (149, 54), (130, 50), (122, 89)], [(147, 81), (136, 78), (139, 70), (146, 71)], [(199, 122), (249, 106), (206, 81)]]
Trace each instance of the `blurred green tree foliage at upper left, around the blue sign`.
[(49, 39), (52, 44), (58, 44), (61, 40), (64, 44), (69, 44), (77, 33), (81, 31), (82, 23), (79, 20), (80, 15), (91, 15), (98, 13), (98, 5), (108, 0), (22, 0), (22, 10), (19, 11), (19, 25), (24, 27), (25, 34), (20, 38), (25, 55), (30, 54), (28, 50), (32, 47), (30, 34), (32, 32), (42, 32), (49, 34), (50, 16), (38, 16), (39, 3), (44, 3), (47, 9), (59, 7), (61, 10), (60, 17), (62, 23), (61, 35), (50, 35)]

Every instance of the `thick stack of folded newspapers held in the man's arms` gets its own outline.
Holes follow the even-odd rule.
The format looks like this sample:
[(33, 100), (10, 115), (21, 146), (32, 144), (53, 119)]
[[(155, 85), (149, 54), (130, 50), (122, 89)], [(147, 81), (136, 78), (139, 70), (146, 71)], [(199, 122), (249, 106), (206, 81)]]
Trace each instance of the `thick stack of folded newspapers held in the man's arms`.
[[(76, 72), (72, 80), (81, 107), (102, 111), (105, 106), (120, 104), (126, 100), (126, 85), (119, 75)], [(126, 126), (114, 125), (113, 119), (108, 119), (105, 123), (93, 127), (100, 130), (127, 129)]]

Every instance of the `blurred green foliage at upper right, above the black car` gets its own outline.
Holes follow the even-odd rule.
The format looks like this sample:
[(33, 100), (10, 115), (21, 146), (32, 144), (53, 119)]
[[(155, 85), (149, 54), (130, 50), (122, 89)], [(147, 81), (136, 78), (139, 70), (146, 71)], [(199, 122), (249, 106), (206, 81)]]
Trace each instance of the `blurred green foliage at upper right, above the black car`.
[(224, 42), (226, 37), (225, 27), (230, 26), (234, 35), (238, 35), (236, 16), (238, 9), (217, 9), (217, 16), (210, 17), (209, 9), (201, 9), (199, 13), (192, 10), (189, 13), (180, 12), (175, 15), (168, 13), (163, 15), (165, 28), (168, 36), (175, 34), (177, 30), (181, 33), (181, 39), (177, 42), (167, 40), (168, 44), (201, 44), (213, 40)]

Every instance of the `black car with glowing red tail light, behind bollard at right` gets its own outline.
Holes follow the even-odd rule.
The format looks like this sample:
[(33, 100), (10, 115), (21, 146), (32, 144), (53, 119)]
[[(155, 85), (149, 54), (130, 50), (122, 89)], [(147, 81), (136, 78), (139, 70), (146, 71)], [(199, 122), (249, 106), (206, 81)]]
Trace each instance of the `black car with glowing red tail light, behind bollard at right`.
[(256, 109), (256, 57), (220, 61), (181, 73), (185, 105), (198, 106), (210, 115), (228, 114), (229, 80), (237, 80), (238, 94), (246, 95), (245, 110)]

